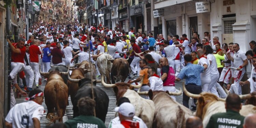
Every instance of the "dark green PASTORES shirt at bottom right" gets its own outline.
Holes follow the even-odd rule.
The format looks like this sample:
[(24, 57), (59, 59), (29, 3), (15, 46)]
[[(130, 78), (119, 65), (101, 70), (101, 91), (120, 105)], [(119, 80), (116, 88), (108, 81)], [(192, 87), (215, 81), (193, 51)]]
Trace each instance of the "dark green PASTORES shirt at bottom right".
[(243, 128), (244, 116), (239, 112), (227, 110), (225, 113), (213, 114), (206, 128)]

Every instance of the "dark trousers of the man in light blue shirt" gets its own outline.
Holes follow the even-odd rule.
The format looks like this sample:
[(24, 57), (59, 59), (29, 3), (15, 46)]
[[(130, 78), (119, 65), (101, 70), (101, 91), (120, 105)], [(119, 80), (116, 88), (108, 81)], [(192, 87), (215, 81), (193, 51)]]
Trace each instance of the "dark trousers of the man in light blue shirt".
[[(185, 85), (187, 91), (189, 93), (193, 93), (193, 94), (200, 94), (202, 92), (202, 87), (201, 86), (197, 86), (195, 84), (187, 84)], [(187, 108), (189, 108), (189, 105), (188, 105), (188, 101), (189, 101), (189, 97), (184, 93), (183, 91), (183, 105)], [(194, 103), (196, 104), (197, 102), (197, 99), (194, 99)]]

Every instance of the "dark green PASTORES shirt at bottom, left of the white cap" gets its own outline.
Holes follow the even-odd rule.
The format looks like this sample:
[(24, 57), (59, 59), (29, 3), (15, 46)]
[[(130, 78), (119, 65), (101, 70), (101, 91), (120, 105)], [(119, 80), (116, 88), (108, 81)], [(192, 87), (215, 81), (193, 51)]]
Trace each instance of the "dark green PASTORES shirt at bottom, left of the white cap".
[(94, 116), (80, 115), (64, 123), (67, 128), (106, 128), (103, 121)]

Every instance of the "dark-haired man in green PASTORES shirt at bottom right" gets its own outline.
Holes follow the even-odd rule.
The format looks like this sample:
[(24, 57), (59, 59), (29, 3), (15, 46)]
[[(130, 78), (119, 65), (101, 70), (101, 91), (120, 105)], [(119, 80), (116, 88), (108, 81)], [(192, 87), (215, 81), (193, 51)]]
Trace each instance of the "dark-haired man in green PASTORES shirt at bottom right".
[[(225, 108), (227, 112), (216, 113), (211, 116), (206, 128), (243, 127), (244, 116), (239, 114), (239, 111), (242, 108), (240, 97), (236, 94), (229, 94), (226, 98)], [(233, 121), (230, 123), (225, 120)]]

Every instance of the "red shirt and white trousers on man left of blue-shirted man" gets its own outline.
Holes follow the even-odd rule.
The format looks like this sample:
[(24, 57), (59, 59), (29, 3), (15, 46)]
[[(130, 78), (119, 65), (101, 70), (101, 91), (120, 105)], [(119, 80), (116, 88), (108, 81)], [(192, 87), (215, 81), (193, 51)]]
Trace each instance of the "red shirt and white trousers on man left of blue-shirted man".
[(38, 55), (41, 55), (41, 51), (37, 45), (29, 46), (29, 57), (30, 57), (30, 67), (35, 74), (35, 85), (38, 85), (40, 73), (39, 73), (39, 58)]

